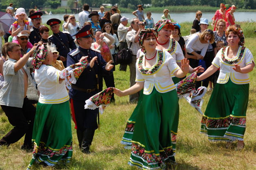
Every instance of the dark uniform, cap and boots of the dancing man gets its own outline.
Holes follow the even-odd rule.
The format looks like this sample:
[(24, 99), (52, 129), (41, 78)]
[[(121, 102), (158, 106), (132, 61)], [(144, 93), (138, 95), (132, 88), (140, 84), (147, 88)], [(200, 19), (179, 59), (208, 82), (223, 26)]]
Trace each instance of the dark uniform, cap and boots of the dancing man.
[[(88, 38), (91, 37), (89, 30), (91, 26), (84, 26), (75, 35), (76, 38)], [(89, 147), (93, 140), (94, 131), (98, 128), (97, 115), (99, 113), (98, 108), (95, 110), (85, 109), (85, 100), (98, 93), (98, 75), (110, 75), (112, 71), (105, 70), (106, 62), (98, 53), (92, 49), (83, 49), (78, 47), (68, 53), (67, 66), (78, 63), (82, 56), (88, 56), (87, 60), (90, 62), (93, 57), (97, 56), (93, 68), (89, 65), (80, 75), (76, 84), (72, 84), (72, 88), (69, 90), (69, 97), (71, 102), (72, 117), (76, 124), (77, 138), (79, 147), (84, 153), (90, 153)]]

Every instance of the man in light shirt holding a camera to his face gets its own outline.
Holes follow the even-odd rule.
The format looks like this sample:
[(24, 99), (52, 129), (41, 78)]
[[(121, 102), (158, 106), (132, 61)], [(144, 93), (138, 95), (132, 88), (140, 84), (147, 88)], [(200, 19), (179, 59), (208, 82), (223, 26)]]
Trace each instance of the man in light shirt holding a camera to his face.
[[(132, 63), (129, 64), (130, 68), (130, 87), (135, 85), (136, 78), (136, 61), (137, 61), (137, 52), (139, 49), (139, 32), (143, 30), (143, 22), (140, 22), (138, 18), (134, 18), (130, 20), (130, 26), (132, 30), (126, 34), (126, 41), (128, 43), (128, 47), (132, 50)], [(131, 44), (132, 43), (132, 44)], [(131, 45), (130, 45), (131, 44)], [(139, 92), (129, 95), (130, 103), (137, 103), (139, 99)]]

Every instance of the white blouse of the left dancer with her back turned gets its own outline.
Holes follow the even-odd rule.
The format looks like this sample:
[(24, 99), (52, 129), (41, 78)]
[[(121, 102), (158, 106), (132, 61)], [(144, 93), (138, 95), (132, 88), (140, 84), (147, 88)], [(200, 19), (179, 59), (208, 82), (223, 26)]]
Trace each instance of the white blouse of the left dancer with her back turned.
[(60, 72), (45, 64), (35, 70), (35, 81), (40, 91), (39, 103), (59, 104), (69, 100), (65, 81), (59, 82)]

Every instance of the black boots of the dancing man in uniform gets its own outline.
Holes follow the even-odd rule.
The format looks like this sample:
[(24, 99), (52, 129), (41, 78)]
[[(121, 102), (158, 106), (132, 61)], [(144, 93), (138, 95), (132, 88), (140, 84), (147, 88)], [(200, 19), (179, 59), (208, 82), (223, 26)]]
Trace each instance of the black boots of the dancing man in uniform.
[(90, 153), (90, 146), (93, 140), (95, 130), (86, 129), (84, 132), (76, 130), (79, 148), (83, 153)]

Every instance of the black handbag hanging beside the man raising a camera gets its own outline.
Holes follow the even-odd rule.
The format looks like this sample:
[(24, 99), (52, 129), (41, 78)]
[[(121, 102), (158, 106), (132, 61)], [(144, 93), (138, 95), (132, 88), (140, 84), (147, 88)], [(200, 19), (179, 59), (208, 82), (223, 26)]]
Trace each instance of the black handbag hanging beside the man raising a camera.
[(131, 46), (132, 46), (132, 42), (130, 43), (130, 47), (128, 49), (125, 49), (123, 47), (123, 49), (118, 51), (117, 56), (115, 58), (115, 64), (131, 64), (132, 63), (132, 50), (130, 49)]

